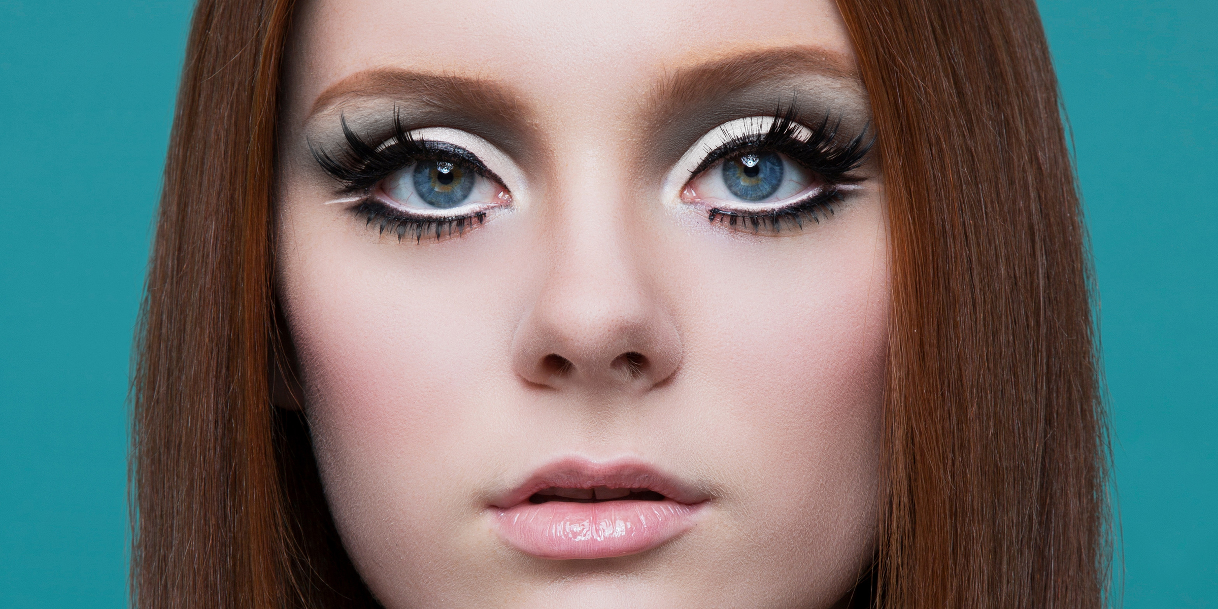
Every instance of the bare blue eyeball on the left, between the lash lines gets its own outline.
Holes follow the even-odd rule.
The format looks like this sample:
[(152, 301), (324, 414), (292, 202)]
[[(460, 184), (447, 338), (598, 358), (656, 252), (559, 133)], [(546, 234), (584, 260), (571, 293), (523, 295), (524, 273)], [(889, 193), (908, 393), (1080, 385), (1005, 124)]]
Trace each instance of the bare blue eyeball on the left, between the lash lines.
[(381, 189), (392, 202), (410, 209), (452, 209), (493, 202), (501, 186), (462, 161), (418, 161), (391, 173)]

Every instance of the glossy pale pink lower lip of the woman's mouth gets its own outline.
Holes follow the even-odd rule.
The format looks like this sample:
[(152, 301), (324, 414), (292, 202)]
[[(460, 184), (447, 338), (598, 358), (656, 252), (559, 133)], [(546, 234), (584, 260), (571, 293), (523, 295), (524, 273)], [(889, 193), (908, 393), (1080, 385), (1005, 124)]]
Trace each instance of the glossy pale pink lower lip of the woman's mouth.
[(613, 558), (659, 547), (694, 525), (700, 505), (675, 501), (552, 501), (499, 509), (499, 536), (537, 558)]

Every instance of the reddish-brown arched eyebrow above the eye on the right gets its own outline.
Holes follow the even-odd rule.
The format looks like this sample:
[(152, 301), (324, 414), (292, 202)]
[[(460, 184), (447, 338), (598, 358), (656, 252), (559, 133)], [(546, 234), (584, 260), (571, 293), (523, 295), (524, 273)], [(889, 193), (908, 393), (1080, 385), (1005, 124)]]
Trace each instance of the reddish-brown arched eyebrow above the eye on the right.
[(854, 57), (814, 46), (784, 46), (677, 67), (652, 86), (644, 105), (652, 114), (663, 117), (758, 84), (810, 74), (862, 90)]

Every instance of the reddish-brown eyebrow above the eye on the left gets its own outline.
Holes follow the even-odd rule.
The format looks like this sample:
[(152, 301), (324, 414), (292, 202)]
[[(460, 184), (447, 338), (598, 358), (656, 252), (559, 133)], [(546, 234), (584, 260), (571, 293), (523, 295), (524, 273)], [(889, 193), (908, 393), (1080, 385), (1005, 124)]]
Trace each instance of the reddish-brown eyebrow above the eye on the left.
[(356, 72), (322, 91), (313, 101), (306, 122), (351, 97), (410, 100), (452, 113), (476, 113), (493, 123), (519, 122), (527, 114), (515, 95), (491, 80), (374, 68)]

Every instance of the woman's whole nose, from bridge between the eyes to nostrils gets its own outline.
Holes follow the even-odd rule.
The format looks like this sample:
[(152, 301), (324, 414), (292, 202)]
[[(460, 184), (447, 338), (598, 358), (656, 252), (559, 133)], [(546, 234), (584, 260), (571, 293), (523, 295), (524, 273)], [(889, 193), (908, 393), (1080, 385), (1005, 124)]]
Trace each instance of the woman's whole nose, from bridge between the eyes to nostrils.
[(571, 172), (546, 201), (549, 264), (515, 336), (524, 379), (555, 389), (653, 386), (672, 374), (680, 337), (649, 280), (637, 216), (613, 172)]

